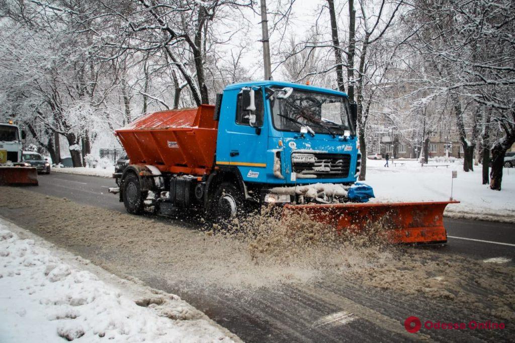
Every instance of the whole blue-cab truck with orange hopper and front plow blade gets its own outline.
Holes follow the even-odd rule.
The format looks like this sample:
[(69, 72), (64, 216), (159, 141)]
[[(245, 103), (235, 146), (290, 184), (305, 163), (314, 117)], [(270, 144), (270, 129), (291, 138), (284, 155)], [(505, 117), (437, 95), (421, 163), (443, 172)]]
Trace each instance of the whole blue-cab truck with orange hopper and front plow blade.
[[(356, 104), (347, 94), (278, 81), (229, 85), (216, 105), (147, 114), (115, 133), (129, 213), (196, 208), (221, 222), (281, 203), (337, 230), (380, 223), (396, 243), (445, 243), (445, 202), (356, 203)], [(150, 193), (151, 192), (151, 193)]]

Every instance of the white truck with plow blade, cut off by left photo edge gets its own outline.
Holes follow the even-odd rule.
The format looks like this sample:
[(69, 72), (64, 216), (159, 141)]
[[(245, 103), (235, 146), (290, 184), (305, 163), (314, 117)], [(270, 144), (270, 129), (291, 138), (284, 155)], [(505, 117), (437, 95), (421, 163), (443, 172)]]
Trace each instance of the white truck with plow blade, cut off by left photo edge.
[(22, 161), (25, 131), (0, 123), (0, 185), (38, 185), (38, 170)]

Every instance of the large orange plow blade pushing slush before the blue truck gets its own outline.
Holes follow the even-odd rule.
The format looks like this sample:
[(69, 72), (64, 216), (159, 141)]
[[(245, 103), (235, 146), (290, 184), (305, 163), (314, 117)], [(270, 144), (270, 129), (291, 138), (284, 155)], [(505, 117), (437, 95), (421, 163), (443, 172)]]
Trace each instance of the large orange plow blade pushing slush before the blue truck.
[(287, 204), (284, 215), (306, 213), (314, 221), (351, 232), (379, 225), (380, 232), (392, 243), (445, 243), (443, 210), (449, 203), (459, 201)]

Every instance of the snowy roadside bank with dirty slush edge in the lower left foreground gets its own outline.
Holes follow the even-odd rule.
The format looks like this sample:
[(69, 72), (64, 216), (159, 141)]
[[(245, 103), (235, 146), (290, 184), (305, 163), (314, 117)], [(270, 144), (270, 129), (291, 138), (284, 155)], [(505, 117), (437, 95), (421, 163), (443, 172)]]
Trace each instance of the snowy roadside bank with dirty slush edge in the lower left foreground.
[(179, 297), (119, 279), (0, 218), (0, 342), (66, 339), (239, 341)]

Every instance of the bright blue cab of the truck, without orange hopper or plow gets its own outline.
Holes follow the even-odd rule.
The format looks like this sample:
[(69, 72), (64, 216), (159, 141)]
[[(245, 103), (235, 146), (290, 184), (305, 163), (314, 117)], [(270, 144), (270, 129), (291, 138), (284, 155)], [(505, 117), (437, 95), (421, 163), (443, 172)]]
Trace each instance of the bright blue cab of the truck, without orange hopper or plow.
[(352, 184), (359, 174), (356, 106), (345, 93), (280, 81), (236, 83), (217, 98), (215, 118), (216, 166), (237, 169), (245, 186), (261, 193)]

